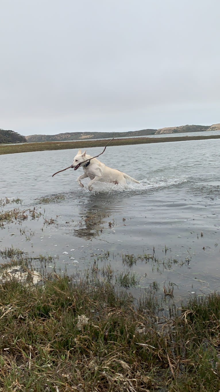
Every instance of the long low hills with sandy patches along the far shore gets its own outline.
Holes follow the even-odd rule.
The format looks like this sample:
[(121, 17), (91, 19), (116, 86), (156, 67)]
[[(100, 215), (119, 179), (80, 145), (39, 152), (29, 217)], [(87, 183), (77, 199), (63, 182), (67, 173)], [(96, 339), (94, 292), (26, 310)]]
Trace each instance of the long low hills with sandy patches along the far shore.
[[(167, 133), (218, 131), (220, 123), (213, 125), (182, 125), (180, 127), (168, 127), (160, 129), (141, 129), (140, 131), (115, 132), (115, 138), (128, 138), (129, 136), (148, 136)], [(30, 135), (26, 136), (27, 142), (67, 142), (70, 140), (83, 139), (108, 139), (112, 138), (113, 132), (65, 132), (56, 135)]]

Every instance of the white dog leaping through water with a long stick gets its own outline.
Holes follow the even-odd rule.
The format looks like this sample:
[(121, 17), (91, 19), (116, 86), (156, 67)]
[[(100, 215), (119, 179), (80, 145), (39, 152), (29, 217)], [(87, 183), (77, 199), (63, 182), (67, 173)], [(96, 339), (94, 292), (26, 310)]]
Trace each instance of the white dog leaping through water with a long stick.
[[(83, 187), (84, 185), (81, 183), (80, 180), (87, 177), (89, 177), (91, 180), (88, 183), (89, 191), (92, 191), (92, 184), (95, 181), (110, 182), (110, 183), (114, 183), (115, 185), (125, 185), (127, 179), (140, 184), (139, 181), (128, 176), (127, 174), (120, 172), (119, 170), (116, 169), (111, 169), (110, 167), (104, 165), (104, 163), (100, 162), (96, 158), (94, 159), (91, 158), (92, 156), (86, 154), (86, 151), (81, 153), (81, 150), (79, 150), (71, 165), (71, 167), (73, 167), (74, 170), (77, 170), (80, 166), (83, 167), (84, 173), (77, 178), (78, 184), (81, 187)], [(84, 162), (87, 159), (88, 161)]]

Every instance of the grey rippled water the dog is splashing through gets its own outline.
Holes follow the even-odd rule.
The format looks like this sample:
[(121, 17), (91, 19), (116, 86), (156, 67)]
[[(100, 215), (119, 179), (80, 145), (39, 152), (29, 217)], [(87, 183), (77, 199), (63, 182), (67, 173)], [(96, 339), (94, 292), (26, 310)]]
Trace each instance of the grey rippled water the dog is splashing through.
[[(88, 149), (90, 155), (101, 151)], [(76, 149), (2, 155), (0, 198), (19, 197), (22, 208), (41, 207), (56, 224), (28, 221), (23, 223), (27, 235), (20, 225), (9, 225), (1, 230), (0, 248), (55, 256), (56, 267), (68, 273), (87, 268), (107, 250), (108, 262), (119, 270), (126, 269), (122, 254), (155, 254), (159, 261), (139, 259), (132, 267), (142, 289), (153, 281), (160, 290), (171, 284), (179, 298), (218, 290), (219, 151), (220, 140), (107, 147), (100, 160), (141, 184), (123, 189), (95, 183), (93, 192), (87, 180), (83, 189), (76, 182), (82, 169), (52, 178), (72, 163)], [(64, 200), (38, 202), (57, 195)]]

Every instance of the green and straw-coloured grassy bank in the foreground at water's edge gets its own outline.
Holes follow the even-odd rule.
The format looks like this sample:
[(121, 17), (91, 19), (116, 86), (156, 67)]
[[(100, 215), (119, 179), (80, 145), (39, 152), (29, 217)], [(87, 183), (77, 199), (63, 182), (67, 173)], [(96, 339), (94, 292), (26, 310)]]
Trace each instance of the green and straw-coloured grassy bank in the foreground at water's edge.
[(168, 301), (165, 318), (153, 291), (135, 301), (105, 263), (68, 277), (48, 274), (41, 258), (33, 285), (28, 256), (5, 249), (2, 257), (1, 391), (219, 390), (218, 294), (181, 309)]

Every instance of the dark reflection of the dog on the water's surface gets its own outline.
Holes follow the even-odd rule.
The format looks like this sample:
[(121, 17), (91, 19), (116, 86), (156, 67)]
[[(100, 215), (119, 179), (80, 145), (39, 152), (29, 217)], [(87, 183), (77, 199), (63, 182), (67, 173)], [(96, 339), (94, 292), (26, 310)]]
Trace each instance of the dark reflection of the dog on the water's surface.
[(121, 201), (121, 194), (115, 193), (94, 193), (90, 198), (79, 201), (79, 227), (74, 229), (74, 236), (91, 240), (102, 232), (105, 223), (110, 216), (117, 213), (118, 205)]

